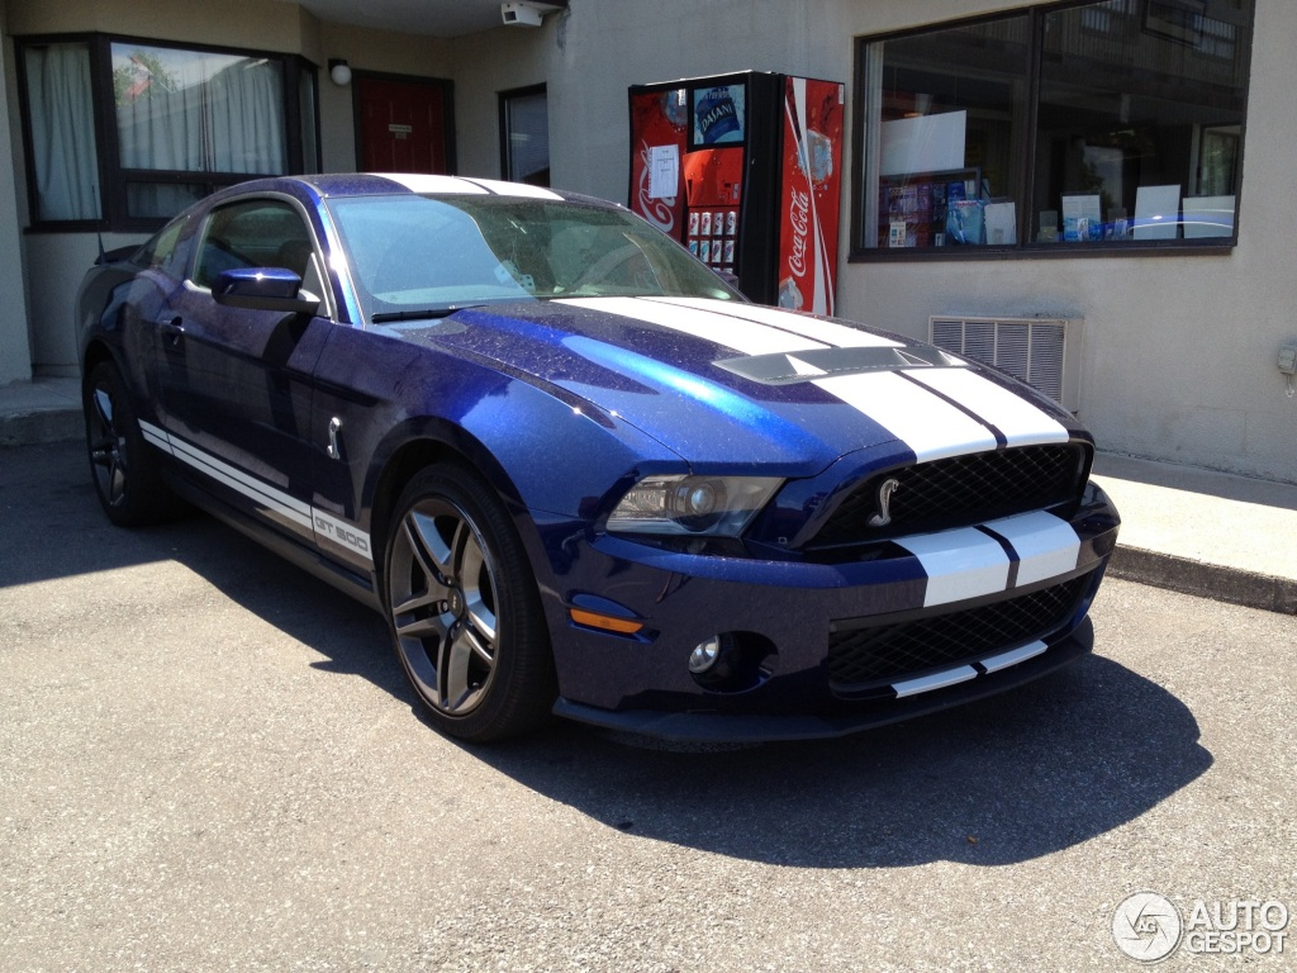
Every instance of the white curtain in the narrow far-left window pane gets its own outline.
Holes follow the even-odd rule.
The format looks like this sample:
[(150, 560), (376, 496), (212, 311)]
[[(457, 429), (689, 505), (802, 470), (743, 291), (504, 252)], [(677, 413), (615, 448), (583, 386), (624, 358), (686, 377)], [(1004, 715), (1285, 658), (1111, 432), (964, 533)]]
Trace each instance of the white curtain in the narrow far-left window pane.
[(26, 51), (40, 219), (99, 219), (99, 147), (89, 48), (51, 44)]

